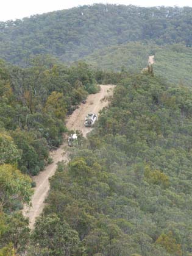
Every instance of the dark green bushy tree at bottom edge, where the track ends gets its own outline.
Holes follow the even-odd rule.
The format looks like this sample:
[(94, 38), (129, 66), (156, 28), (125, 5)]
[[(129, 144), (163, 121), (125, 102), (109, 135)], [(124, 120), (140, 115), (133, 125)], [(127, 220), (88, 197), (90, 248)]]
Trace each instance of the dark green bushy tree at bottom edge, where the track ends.
[(39, 218), (35, 224), (33, 237), (35, 251), (40, 249), (43, 252), (47, 249), (52, 256), (82, 255), (77, 232), (57, 215)]

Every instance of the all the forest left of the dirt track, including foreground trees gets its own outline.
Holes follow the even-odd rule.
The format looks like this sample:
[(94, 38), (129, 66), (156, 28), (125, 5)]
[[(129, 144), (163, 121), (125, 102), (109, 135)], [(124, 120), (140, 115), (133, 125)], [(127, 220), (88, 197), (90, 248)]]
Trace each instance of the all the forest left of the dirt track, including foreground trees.
[(85, 63), (67, 68), (37, 57), (23, 69), (0, 61), (1, 256), (25, 251), (29, 221), (20, 209), (30, 204), (35, 184), (29, 176), (51, 162), (49, 150), (62, 143), (66, 114), (97, 90)]

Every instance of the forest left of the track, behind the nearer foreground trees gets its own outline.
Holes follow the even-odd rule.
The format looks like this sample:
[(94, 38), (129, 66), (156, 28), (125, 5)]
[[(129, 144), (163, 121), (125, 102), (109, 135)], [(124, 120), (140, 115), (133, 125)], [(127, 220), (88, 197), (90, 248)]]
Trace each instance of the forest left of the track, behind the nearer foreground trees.
[(22, 172), (35, 175), (49, 149), (62, 143), (66, 113), (98, 91), (96, 80), (85, 63), (67, 68), (43, 56), (26, 69), (0, 65), (0, 163), (17, 161)]

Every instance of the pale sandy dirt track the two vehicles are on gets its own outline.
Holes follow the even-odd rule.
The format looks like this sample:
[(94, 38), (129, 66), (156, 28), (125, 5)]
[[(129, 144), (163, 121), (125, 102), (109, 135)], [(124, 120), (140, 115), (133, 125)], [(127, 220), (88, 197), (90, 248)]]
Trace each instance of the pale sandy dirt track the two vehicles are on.
[[(80, 104), (71, 116), (69, 116), (66, 126), (69, 130), (81, 130), (84, 137), (90, 132), (89, 127), (84, 126), (84, 119), (87, 113), (93, 112), (98, 114), (99, 110), (105, 107), (108, 102), (104, 101), (106, 96), (112, 94), (113, 85), (101, 85), (101, 91), (96, 94), (90, 94), (85, 104)], [(23, 215), (29, 217), (29, 227), (33, 229), (35, 224), (35, 218), (41, 214), (44, 207), (44, 199), (49, 191), (49, 178), (54, 175), (57, 169), (57, 162), (68, 161), (67, 154), (64, 151), (64, 144), (59, 149), (51, 153), (54, 162), (48, 165), (44, 171), (40, 172), (38, 176), (35, 176), (33, 180), (36, 182), (34, 188), (34, 196), (32, 197), (32, 207), (24, 207)]]

